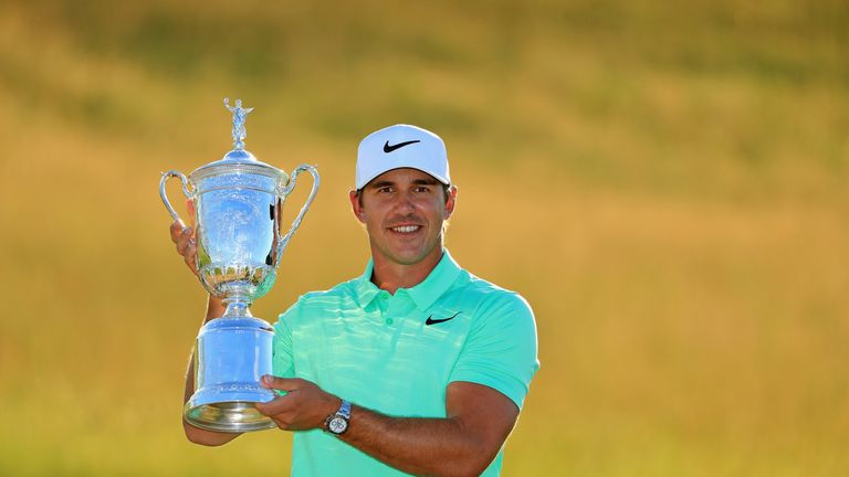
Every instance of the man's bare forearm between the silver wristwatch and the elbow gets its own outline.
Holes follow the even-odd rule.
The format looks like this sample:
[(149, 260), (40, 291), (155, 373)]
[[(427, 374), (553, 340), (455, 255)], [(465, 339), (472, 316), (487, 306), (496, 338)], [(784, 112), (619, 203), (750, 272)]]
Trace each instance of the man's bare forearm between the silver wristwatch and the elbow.
[(480, 475), (497, 454), (460, 418), (391, 417), (353, 406), (343, 441), (416, 475)]

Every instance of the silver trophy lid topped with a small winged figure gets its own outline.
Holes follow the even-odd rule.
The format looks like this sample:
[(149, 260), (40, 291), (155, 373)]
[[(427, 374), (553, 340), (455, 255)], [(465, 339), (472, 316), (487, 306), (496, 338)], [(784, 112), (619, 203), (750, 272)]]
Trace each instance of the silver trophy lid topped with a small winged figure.
[(289, 182), (289, 176), (285, 172), (259, 161), (252, 153), (244, 150), (244, 138), (248, 137), (244, 121), (253, 108), (243, 108), (241, 99), (235, 100), (235, 107), (230, 106), (228, 98), (224, 98), (224, 107), (233, 114), (233, 149), (223, 158), (195, 169), (189, 174), (191, 181), (197, 184), (201, 179), (223, 173), (259, 173), (274, 179), (277, 183)]

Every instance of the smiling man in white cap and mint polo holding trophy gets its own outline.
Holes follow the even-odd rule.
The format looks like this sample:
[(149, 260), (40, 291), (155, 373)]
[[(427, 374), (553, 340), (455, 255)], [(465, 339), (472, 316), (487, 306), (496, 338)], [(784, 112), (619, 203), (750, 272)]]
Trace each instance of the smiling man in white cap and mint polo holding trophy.
[[(536, 328), (521, 296), (460, 268), (443, 247), (457, 187), (442, 139), (408, 125), (369, 135), (349, 199), (371, 259), (360, 277), (280, 316), (276, 377), (263, 385), (283, 395), (256, 409), (300, 431), (293, 475), (497, 475), (538, 369)], [(191, 230), (181, 229), (171, 236), (193, 267)], [(210, 297), (207, 319), (222, 312)], [(205, 445), (237, 437), (184, 427)]]

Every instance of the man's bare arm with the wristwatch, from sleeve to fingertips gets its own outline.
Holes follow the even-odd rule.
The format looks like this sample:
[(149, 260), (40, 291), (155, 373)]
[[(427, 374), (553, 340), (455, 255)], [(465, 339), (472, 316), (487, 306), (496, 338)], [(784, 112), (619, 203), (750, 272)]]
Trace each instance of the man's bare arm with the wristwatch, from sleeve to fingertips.
[[(266, 377), (263, 384), (286, 391), (256, 409), (279, 427), (304, 431), (324, 427), (340, 400), (302, 379)], [(352, 406), (340, 439), (399, 470), (417, 475), (480, 475), (501, 449), (518, 416), (518, 407), (492, 388), (452, 382), (446, 394), (446, 417), (394, 417)]]

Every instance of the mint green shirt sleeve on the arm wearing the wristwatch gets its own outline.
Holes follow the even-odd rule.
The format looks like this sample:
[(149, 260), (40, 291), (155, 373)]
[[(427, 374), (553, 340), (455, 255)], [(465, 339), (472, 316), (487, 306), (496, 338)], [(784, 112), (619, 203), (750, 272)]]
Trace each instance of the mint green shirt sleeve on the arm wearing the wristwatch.
[(475, 315), (449, 382), (486, 385), (522, 409), (531, 378), (539, 369), (534, 312), (520, 295), (505, 293)]

